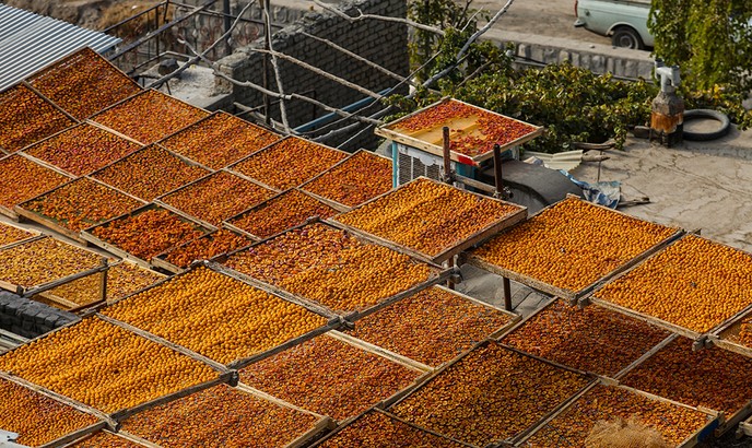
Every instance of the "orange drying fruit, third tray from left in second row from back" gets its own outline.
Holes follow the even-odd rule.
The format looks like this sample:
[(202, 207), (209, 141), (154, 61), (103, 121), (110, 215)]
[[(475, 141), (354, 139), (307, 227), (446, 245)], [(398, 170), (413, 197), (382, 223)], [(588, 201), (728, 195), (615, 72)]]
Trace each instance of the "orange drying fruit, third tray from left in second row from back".
[(191, 165), (161, 146), (149, 145), (99, 169), (92, 177), (151, 201), (208, 174), (207, 169)]

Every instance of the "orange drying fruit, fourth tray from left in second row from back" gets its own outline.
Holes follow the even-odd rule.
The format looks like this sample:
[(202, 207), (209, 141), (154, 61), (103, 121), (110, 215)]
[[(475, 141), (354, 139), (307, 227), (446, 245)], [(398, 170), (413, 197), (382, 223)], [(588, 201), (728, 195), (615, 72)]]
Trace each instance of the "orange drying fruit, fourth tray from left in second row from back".
[(162, 202), (212, 225), (265, 201), (275, 192), (227, 172), (218, 172), (174, 191)]

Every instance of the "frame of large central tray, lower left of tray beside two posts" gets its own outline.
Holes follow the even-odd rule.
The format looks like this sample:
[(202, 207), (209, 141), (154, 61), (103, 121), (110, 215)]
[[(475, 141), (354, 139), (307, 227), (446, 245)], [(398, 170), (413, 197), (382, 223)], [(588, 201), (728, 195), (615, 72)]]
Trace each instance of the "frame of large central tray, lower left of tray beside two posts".
[[(223, 264), (223, 268), (224, 268), (227, 272), (233, 272), (234, 275), (238, 275), (240, 279), (245, 280), (247, 283), (250, 283), (250, 284), (252, 284), (252, 285), (257, 285), (257, 286), (262, 287), (262, 288), (267, 288), (266, 291), (269, 291), (269, 292), (271, 292), (271, 293), (273, 293), (273, 294), (277, 294), (277, 295), (279, 295), (279, 296), (282, 296), (282, 297), (284, 297), (284, 298), (287, 298), (290, 302), (295, 302), (295, 303), (298, 303), (298, 304), (305, 304), (304, 306), (305, 306), (306, 308), (308, 308), (308, 309), (314, 309), (314, 310), (318, 309), (319, 311), (317, 311), (317, 313), (324, 314), (325, 316), (326, 316), (326, 315), (331, 315), (331, 316), (343, 316), (343, 318), (344, 318), (345, 320), (350, 321), (350, 322), (353, 322), (353, 321), (360, 319), (361, 317), (367, 316), (367, 315), (369, 315), (369, 314), (372, 314), (372, 313), (376, 313), (377, 310), (379, 310), (379, 309), (381, 309), (381, 308), (384, 308), (384, 307), (386, 307), (386, 306), (389, 306), (389, 305), (393, 304), (395, 302), (401, 300), (402, 298), (408, 297), (408, 296), (411, 296), (411, 295), (413, 295), (413, 294), (415, 294), (415, 293), (418, 293), (418, 292), (420, 292), (420, 291), (423, 291), (423, 290), (425, 290), (425, 288), (427, 288), (427, 287), (431, 287), (431, 286), (436, 285), (436, 284), (438, 284), (438, 283), (445, 282), (445, 281), (453, 274), (453, 270), (451, 270), (451, 269), (444, 268), (444, 267), (440, 267), (440, 266), (438, 266), (438, 264), (434, 264), (434, 263), (431, 263), (431, 262), (425, 262), (425, 261), (423, 261), (423, 260), (415, 260), (415, 259), (413, 258), (414, 261), (419, 261), (419, 262), (422, 262), (422, 263), (428, 266), (428, 268), (430, 268), (431, 271), (432, 271), (432, 275), (428, 278), (428, 280), (426, 280), (426, 281), (424, 281), (424, 282), (422, 282), (422, 283), (419, 283), (419, 284), (416, 284), (416, 285), (414, 285), (414, 286), (412, 286), (412, 287), (410, 287), (410, 288), (408, 288), (408, 290), (406, 290), (406, 291), (402, 291), (402, 292), (400, 292), (400, 293), (397, 293), (397, 294), (395, 294), (395, 295), (392, 295), (392, 296), (390, 296), (390, 297), (385, 297), (385, 298), (381, 299), (379, 303), (377, 303), (377, 304), (375, 304), (375, 305), (372, 305), (372, 306), (369, 306), (369, 307), (367, 307), (367, 308), (364, 308), (364, 309), (362, 309), (362, 310), (344, 311), (344, 314), (341, 314), (341, 313), (338, 313), (337, 310), (333, 310), (333, 309), (331, 309), (331, 308), (329, 308), (329, 307), (327, 307), (327, 306), (325, 306), (325, 305), (322, 305), (322, 304), (319, 304), (319, 303), (317, 303), (317, 302), (314, 302), (314, 300), (312, 300), (312, 299), (309, 299), (309, 298), (307, 298), (307, 297), (298, 296), (298, 295), (296, 295), (296, 294), (286, 292), (286, 291), (282, 290), (282, 288), (279, 287), (279, 286), (272, 285), (272, 284), (270, 284), (270, 283), (266, 283), (266, 282), (260, 281), (260, 280), (257, 280), (257, 279), (254, 279), (254, 278), (251, 278), (251, 276), (249, 276), (249, 275), (247, 275), (247, 274), (244, 274), (244, 273), (242, 273), (242, 272), (235, 271), (235, 270), (233, 270), (232, 268), (228, 268), (228, 267), (224, 266), (224, 262), (227, 260), (227, 258), (232, 257), (233, 255), (235, 255), (235, 254), (237, 254), (237, 252), (246, 251), (246, 250), (248, 250), (248, 249), (250, 249), (250, 248), (252, 248), (252, 247), (255, 247), (255, 246), (259, 246), (259, 245), (262, 245), (262, 244), (267, 244), (268, 241), (270, 241), (270, 240), (272, 240), (272, 239), (274, 239), (274, 238), (277, 238), (277, 237), (279, 237), (279, 236), (281, 236), (281, 235), (283, 235), (283, 234), (285, 234), (285, 233), (289, 233), (289, 232), (292, 232), (292, 231), (296, 231), (296, 229), (302, 228), (302, 227), (304, 227), (304, 226), (306, 226), (306, 225), (312, 225), (312, 224), (315, 224), (315, 223), (320, 223), (320, 224), (322, 224), (322, 225), (325, 225), (325, 226), (328, 226), (328, 227), (331, 227), (331, 228), (334, 228), (334, 229), (338, 229), (338, 231), (349, 232), (349, 229), (348, 229), (346, 227), (342, 226), (342, 225), (339, 224), (339, 223), (331, 222), (331, 221), (321, 221), (321, 220), (318, 219), (317, 216), (314, 216), (313, 219), (308, 219), (308, 220), (307, 220), (305, 223), (303, 223), (303, 224), (299, 224), (299, 225), (296, 225), (296, 226), (294, 226), (294, 227), (291, 227), (291, 228), (289, 228), (289, 229), (286, 229), (286, 231), (280, 232), (280, 233), (278, 233), (278, 234), (275, 234), (275, 235), (270, 236), (269, 238), (262, 239), (262, 240), (260, 240), (260, 241), (258, 241), (258, 243), (254, 243), (254, 244), (251, 244), (251, 245), (249, 245), (249, 246), (246, 246), (246, 247), (238, 248), (237, 250), (233, 250), (233, 251), (227, 252), (227, 254), (225, 254), (225, 255), (223, 255), (223, 256), (214, 257), (213, 259), (211, 259), (211, 261), (216, 262), (216, 263), (220, 263), (220, 264)], [(368, 237), (366, 237), (366, 236), (356, 235), (356, 234), (353, 234), (353, 236), (354, 236), (355, 238), (357, 238), (357, 239), (359, 239), (360, 241), (362, 241), (362, 243), (372, 244), (372, 245), (376, 245), (376, 246), (383, 246), (383, 245), (380, 245), (378, 241), (374, 241), (373, 239), (371, 239), (371, 238), (368, 238)], [(390, 249), (391, 249), (391, 248), (390, 248)], [(395, 249), (391, 249), (391, 250), (395, 250)], [(396, 251), (397, 251), (397, 252), (400, 252), (400, 254), (403, 254), (403, 252), (401, 252), (401, 251), (399, 251), (399, 250), (396, 250)], [(403, 255), (408, 255), (408, 254), (403, 254)], [(408, 256), (409, 256), (409, 255), (408, 255)]]

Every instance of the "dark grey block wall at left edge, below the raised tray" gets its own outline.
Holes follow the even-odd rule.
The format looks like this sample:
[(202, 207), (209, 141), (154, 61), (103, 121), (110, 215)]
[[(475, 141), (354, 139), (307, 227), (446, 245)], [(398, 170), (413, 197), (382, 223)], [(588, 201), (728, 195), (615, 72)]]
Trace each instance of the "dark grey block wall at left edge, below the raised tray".
[(79, 317), (19, 295), (0, 291), (0, 329), (33, 339)]

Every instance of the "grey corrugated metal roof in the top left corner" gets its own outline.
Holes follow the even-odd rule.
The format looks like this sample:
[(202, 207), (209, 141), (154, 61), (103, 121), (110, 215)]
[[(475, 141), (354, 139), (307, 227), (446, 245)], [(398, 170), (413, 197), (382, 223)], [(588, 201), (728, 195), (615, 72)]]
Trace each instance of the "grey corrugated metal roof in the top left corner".
[(0, 91), (82, 47), (103, 52), (120, 40), (0, 3)]

